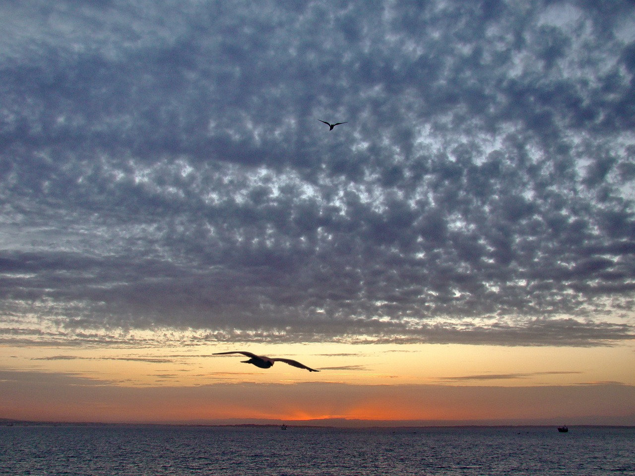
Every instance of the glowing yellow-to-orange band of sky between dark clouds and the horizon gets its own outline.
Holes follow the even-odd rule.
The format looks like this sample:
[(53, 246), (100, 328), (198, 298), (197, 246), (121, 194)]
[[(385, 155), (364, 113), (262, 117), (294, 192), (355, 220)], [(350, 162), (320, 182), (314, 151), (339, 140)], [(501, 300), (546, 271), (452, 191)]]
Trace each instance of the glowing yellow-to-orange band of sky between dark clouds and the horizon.
[(1, 347), (0, 417), (635, 424), (635, 352), (628, 346), (267, 347), (319, 373), (210, 355), (224, 350)]

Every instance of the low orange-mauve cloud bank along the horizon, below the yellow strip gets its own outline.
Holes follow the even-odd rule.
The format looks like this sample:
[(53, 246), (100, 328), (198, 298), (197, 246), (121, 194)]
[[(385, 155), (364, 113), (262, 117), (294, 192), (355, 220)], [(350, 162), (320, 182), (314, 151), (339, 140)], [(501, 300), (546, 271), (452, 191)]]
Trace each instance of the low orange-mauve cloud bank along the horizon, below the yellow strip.
[[(425, 421), (561, 425), (563, 418), (570, 425), (574, 421), (629, 425), (635, 392), (632, 386), (612, 383), (472, 387), (243, 382), (134, 387), (72, 374), (8, 370), (0, 371), (0, 390), (6, 395), (6, 416), (24, 420), (227, 423), (236, 418), (239, 421), (234, 423), (241, 423), (340, 418), (409, 420), (419, 425)], [(46, 395), (44, 403), (42, 395)], [(346, 421), (332, 423), (347, 425)]]

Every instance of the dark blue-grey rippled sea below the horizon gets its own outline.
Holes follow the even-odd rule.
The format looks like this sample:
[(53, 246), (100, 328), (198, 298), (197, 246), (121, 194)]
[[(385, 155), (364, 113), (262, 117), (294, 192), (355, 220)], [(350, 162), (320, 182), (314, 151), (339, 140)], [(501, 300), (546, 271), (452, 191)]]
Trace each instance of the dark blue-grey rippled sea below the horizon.
[(1, 426), (0, 474), (635, 475), (635, 428)]

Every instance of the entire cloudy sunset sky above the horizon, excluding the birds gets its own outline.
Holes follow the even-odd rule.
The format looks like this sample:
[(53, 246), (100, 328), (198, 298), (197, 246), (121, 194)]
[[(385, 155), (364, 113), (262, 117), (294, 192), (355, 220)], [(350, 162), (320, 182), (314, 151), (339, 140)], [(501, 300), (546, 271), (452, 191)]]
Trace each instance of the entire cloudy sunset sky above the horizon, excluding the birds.
[(0, 418), (635, 425), (632, 1), (0, 18)]

